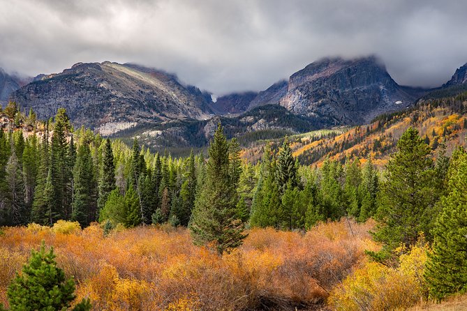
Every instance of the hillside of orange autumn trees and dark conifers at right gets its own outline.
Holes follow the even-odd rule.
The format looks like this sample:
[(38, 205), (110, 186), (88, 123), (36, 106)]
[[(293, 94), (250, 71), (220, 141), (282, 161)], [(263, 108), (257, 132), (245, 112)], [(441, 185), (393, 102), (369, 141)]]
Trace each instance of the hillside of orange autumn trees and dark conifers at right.
[[(364, 126), (292, 135), (290, 142), (293, 154), (302, 164), (320, 165), (326, 159), (346, 162), (356, 156), (363, 160), (371, 157), (376, 165), (384, 167), (396, 151), (398, 139), (410, 126), (417, 128), (420, 137), (431, 146), (433, 158), (442, 142), (447, 155), (456, 146), (467, 146), (467, 90), (447, 86), (429, 93), (412, 107), (382, 114)], [(271, 142), (279, 148), (281, 140)], [(258, 161), (265, 143), (246, 148), (244, 158)]]

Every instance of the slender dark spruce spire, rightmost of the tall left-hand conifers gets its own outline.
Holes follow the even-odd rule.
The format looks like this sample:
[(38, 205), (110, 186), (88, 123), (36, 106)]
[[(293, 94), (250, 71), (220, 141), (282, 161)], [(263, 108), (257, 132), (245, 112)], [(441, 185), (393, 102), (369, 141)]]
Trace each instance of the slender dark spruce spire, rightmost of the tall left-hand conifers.
[(115, 162), (114, 153), (110, 139), (105, 139), (105, 145), (102, 157), (101, 179), (99, 181), (99, 198), (96, 218), (99, 218), (99, 212), (105, 206), (109, 193), (117, 188), (115, 185)]

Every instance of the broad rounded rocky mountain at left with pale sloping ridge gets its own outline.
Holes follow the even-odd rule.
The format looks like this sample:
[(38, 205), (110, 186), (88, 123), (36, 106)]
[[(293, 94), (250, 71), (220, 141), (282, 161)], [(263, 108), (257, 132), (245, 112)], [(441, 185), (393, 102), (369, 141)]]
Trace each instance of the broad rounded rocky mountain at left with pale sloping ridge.
[(138, 123), (207, 119), (211, 96), (181, 84), (175, 75), (131, 63), (77, 63), (62, 73), (40, 75), (10, 96), (40, 119), (66, 108), (75, 126), (110, 135)]

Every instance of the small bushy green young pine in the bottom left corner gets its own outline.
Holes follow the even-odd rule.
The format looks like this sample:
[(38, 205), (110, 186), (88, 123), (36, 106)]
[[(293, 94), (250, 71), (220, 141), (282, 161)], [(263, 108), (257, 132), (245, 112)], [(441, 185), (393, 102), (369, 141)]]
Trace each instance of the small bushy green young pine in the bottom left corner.
[[(53, 248), (46, 252), (43, 243), (38, 252), (31, 252), (22, 274), (8, 286), (7, 296), (11, 311), (52, 311), (68, 310), (75, 300), (74, 292), (75, 282), (57, 266)], [(91, 303), (83, 300), (73, 310), (91, 310)]]

